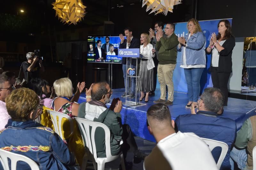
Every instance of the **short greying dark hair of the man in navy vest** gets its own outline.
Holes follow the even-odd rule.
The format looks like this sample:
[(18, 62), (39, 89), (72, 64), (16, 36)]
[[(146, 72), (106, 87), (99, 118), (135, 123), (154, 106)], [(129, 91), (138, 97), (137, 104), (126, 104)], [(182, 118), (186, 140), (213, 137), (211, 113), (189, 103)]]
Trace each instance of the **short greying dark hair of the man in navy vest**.
[(210, 112), (219, 112), (224, 103), (224, 96), (220, 89), (206, 88), (200, 97), (204, 102), (204, 107)]

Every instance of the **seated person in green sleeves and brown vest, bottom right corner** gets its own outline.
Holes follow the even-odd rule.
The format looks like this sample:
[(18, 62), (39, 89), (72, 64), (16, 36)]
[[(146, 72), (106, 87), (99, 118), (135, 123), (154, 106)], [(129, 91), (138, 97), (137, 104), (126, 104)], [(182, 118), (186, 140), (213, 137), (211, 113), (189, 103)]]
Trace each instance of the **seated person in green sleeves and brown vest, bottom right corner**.
[[(253, 169), (252, 150), (256, 146), (256, 116), (245, 120), (242, 128), (236, 134), (235, 147), (230, 152), (230, 157), (240, 169)], [(237, 149), (236, 149), (237, 148)], [(230, 158), (231, 169), (234, 162)]]

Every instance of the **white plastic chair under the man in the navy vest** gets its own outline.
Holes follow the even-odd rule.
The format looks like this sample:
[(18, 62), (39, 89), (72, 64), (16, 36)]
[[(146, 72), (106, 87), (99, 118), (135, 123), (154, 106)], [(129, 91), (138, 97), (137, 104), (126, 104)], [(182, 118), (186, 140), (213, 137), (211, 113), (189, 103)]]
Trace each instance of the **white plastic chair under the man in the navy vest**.
[(220, 166), (228, 152), (228, 145), (227, 143), (224, 143), (224, 142), (220, 142), (220, 141), (216, 141), (216, 140), (213, 140), (213, 139), (207, 139), (207, 138), (201, 138), (204, 140), (204, 142), (209, 146), (210, 150), (212, 151), (214, 148), (216, 147), (221, 147), (221, 153), (220, 153), (220, 158), (218, 160), (218, 163), (217, 163), (217, 167), (218, 169), (220, 169)]

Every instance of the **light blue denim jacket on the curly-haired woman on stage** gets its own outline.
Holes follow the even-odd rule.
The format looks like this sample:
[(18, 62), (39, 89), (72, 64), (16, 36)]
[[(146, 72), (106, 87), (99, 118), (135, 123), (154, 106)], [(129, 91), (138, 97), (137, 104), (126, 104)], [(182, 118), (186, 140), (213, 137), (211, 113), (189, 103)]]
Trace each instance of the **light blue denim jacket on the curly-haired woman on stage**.
[(187, 47), (182, 45), (179, 48), (179, 45), (177, 46), (177, 50), (181, 51), (181, 60), (180, 65), (183, 65), (183, 51), (185, 47), (186, 48), (186, 65), (197, 65), (197, 64), (206, 64), (206, 58), (205, 58), (205, 45), (206, 45), (206, 39), (204, 36), (204, 33), (197, 32), (190, 36), (188, 39), (188, 35), (185, 35), (185, 40), (187, 42)]

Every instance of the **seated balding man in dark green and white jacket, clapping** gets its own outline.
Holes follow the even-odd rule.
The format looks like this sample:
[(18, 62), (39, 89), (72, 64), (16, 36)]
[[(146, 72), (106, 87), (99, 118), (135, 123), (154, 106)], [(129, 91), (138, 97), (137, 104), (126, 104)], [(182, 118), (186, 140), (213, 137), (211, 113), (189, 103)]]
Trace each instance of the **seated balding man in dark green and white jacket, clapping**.
[[(127, 124), (122, 125), (120, 114), (122, 109), (122, 102), (119, 100), (113, 111), (107, 108), (106, 104), (110, 102), (112, 90), (106, 82), (93, 84), (92, 90), (90, 92), (92, 101), (80, 104), (78, 117), (100, 122), (108, 126), (111, 133), (111, 154), (117, 155), (120, 151), (123, 151), (125, 158), (126, 153), (129, 150), (134, 154), (133, 162), (140, 163), (146, 155), (141, 153), (141, 151), (138, 149), (130, 126)], [(98, 128), (96, 129), (95, 134), (97, 134), (97, 136), (95, 136), (97, 156), (106, 157), (104, 130)], [(132, 166), (132, 163), (126, 162), (126, 166)]]

